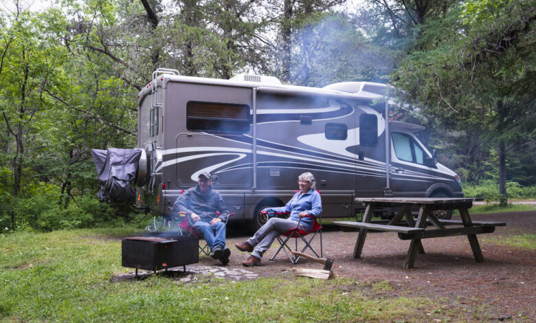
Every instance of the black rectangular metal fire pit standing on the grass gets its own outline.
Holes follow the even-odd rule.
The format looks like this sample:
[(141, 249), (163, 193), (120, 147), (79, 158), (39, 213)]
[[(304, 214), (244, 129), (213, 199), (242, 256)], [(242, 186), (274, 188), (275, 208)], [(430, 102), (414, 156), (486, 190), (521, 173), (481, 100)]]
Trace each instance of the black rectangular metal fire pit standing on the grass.
[(157, 271), (172, 267), (199, 263), (199, 238), (177, 236), (132, 236), (121, 242), (121, 265), (123, 267)]

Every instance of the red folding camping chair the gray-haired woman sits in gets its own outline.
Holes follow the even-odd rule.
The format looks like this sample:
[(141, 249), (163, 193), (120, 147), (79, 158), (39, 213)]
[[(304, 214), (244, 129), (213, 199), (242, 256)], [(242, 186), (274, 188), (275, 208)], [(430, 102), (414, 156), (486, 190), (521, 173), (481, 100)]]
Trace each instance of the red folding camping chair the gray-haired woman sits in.
[[(298, 191), (296, 191), (296, 192), (298, 192)], [(320, 194), (320, 191), (317, 191), (317, 192)], [(282, 215), (282, 214), (290, 214), (289, 212), (271, 212), (271, 213), (264, 212), (264, 213), (267, 215), (267, 220), (271, 216), (278, 216), (278, 215)], [(287, 257), (289, 258), (289, 260), (291, 260), (291, 263), (293, 263), (293, 265), (298, 263), (298, 260), (300, 260), (301, 256), (294, 256), (294, 254), (292, 254), (292, 251), (295, 251), (295, 252), (298, 251), (298, 239), (302, 239), (302, 241), (305, 243), (305, 246), (303, 247), (301, 252), (305, 252), (306, 249), (311, 249), (311, 252), (313, 252), (313, 254), (315, 254), (315, 256), (317, 256), (317, 258), (321, 258), (323, 256), (323, 252), (322, 252), (322, 217), (320, 216), (320, 214), (318, 214), (318, 216), (316, 216), (316, 217), (311, 216), (311, 215), (308, 215), (307, 217), (310, 217), (310, 218), (314, 219), (313, 228), (311, 229), (311, 231), (299, 230), (298, 227), (300, 226), (300, 222), (302, 221), (302, 219), (298, 220), (298, 224), (296, 225), (296, 227), (294, 227), (293, 229), (291, 229), (291, 230), (289, 230), (287, 232), (284, 232), (284, 234), (281, 234), (281, 236), (278, 236), (276, 238), (278, 240), (280, 246), (277, 249), (276, 253), (273, 254), (273, 256), (271, 256), (270, 260), (273, 260), (274, 258), (276, 258), (276, 256), (279, 254), (279, 252), (282, 249), (284, 251), (284, 253), (287, 254)], [(320, 256), (318, 256), (317, 252), (315, 252), (315, 249), (313, 249), (313, 246), (311, 245), (313, 239), (319, 233), (320, 233)], [(312, 234), (312, 236), (308, 240), (306, 238), (306, 236), (309, 235), (309, 234)], [(284, 238), (282, 238), (282, 236), (284, 236)], [(289, 245), (287, 245), (287, 242), (291, 238), (294, 238), (294, 250), (292, 250), (292, 248), (289, 247)]]

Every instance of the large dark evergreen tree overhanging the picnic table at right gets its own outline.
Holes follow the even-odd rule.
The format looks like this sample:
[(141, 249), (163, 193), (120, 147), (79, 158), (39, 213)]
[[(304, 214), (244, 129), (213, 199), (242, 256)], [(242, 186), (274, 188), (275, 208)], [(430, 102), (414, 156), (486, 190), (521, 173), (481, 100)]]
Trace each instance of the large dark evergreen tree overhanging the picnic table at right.
[[(423, 27), (394, 76), (421, 113), (456, 129), (481, 129), (498, 147), (506, 202), (510, 143), (535, 138), (534, 1), (467, 1)], [(417, 103), (418, 102), (418, 103)]]

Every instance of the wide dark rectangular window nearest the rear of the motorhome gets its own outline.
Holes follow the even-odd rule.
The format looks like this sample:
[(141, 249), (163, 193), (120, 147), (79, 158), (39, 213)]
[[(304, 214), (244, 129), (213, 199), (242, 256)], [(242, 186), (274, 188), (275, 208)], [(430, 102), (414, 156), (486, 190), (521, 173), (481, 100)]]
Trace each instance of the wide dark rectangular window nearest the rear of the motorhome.
[(190, 131), (249, 133), (249, 106), (190, 101), (186, 104), (186, 128)]

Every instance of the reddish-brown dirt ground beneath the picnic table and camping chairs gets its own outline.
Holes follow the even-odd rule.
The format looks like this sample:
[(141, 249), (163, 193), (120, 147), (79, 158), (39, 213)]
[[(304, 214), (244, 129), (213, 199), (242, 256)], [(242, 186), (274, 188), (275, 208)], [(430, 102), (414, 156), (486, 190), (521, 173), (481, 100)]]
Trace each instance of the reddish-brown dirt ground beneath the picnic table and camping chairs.
[[(325, 227), (322, 236), (324, 257), (334, 259), (333, 271), (339, 277), (359, 282), (387, 280), (394, 289), (390, 291), (393, 296), (446, 298), (465, 307), (484, 304), (493, 308), (497, 318), (523, 315), (536, 322), (536, 251), (491, 242), (502, 236), (536, 234), (536, 211), (472, 214), (471, 219), (507, 223), (492, 234), (478, 235), (483, 263), (474, 260), (467, 236), (454, 236), (423, 239), (425, 254), (417, 255), (413, 269), (403, 269), (410, 241), (401, 241), (391, 232), (369, 232), (361, 258), (355, 259), (357, 232), (341, 232), (331, 225)], [(241, 263), (249, 254), (239, 252), (234, 244), (248, 236), (230, 229), (227, 245), (232, 254), (227, 268), (245, 269)], [(318, 243), (314, 246), (320, 249)], [(269, 261), (275, 250), (276, 242), (265, 254), (263, 266), (248, 270), (267, 277), (291, 276), (293, 266), (322, 269), (322, 265), (306, 259), (291, 265), (282, 252)], [(214, 262), (208, 256), (199, 259), (199, 265), (211, 266)]]

